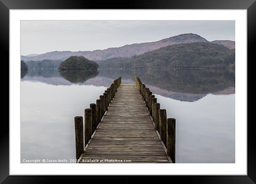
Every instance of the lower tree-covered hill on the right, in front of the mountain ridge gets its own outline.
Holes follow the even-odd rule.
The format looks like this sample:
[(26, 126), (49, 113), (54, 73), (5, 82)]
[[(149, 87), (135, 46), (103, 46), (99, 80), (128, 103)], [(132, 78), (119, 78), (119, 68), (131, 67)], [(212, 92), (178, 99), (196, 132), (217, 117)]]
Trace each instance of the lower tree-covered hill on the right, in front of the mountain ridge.
[(235, 63), (235, 50), (219, 44), (193, 42), (161, 47), (132, 58), (110, 58), (98, 63), (100, 68), (222, 68)]

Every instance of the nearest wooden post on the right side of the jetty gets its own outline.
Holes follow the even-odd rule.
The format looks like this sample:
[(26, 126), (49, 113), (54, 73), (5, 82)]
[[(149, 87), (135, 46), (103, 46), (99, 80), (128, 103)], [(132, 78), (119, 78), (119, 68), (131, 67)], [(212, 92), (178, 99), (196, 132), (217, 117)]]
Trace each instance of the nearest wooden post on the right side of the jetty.
[(176, 120), (167, 118), (167, 156), (171, 157), (172, 163), (175, 163), (175, 137)]

